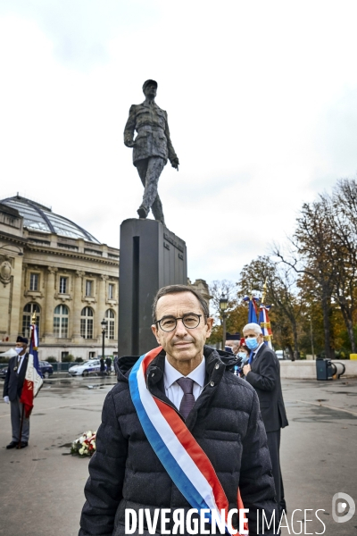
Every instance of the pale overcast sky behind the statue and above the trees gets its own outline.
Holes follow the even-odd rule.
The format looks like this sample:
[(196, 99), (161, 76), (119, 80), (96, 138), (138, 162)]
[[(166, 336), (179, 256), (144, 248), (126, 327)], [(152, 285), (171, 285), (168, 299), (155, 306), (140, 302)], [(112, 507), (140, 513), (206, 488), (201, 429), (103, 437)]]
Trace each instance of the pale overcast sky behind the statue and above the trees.
[(353, 0), (2, 0), (0, 198), (118, 247), (143, 193), (122, 132), (153, 78), (180, 161), (159, 184), (167, 226), (192, 280), (237, 281), (303, 201), (355, 177), (356, 15)]

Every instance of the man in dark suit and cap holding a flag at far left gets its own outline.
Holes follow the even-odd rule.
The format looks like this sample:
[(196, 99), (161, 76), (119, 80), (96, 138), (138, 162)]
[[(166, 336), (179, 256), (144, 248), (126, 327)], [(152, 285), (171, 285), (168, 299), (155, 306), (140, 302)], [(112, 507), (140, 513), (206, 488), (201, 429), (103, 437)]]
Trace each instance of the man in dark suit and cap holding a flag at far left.
[[(12, 441), (6, 446), (6, 448), (15, 448), (19, 445), (20, 441), (20, 429), (21, 429), (21, 415), (23, 411), (23, 404), (20, 402), (21, 391), (23, 382), (25, 380), (26, 369), (29, 363), (28, 348), (29, 339), (25, 337), (19, 337), (16, 339), (16, 352), (17, 356), (14, 356), (9, 361), (7, 367), (7, 373), (4, 381), (4, 402), (10, 404), (11, 420), (12, 420)], [(25, 448), (29, 444), (29, 419), (23, 418), (22, 430), (21, 430), (21, 443), (20, 448)]]

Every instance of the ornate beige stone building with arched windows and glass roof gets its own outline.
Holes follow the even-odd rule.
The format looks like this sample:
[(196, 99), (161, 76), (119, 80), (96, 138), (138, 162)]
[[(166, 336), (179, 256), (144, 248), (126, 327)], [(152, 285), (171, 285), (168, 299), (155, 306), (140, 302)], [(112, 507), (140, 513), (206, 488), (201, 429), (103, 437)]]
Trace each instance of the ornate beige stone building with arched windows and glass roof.
[[(39, 358), (87, 360), (118, 351), (119, 249), (25, 197), (0, 202), (0, 352), (29, 336), (37, 317)], [(204, 280), (187, 281), (209, 303)]]

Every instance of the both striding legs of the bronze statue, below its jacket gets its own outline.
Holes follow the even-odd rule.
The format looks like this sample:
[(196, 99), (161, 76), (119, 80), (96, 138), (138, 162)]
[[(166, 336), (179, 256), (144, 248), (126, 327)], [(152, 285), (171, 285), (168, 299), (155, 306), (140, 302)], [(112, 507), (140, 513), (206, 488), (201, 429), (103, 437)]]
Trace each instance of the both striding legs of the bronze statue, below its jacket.
[[(144, 161), (138, 161), (138, 163), (139, 162)], [(145, 174), (144, 197), (141, 206), (137, 210), (137, 214), (139, 214), (140, 218), (146, 217), (150, 209), (152, 209), (155, 220), (159, 220), (160, 222), (164, 223), (162, 202), (157, 194), (157, 185), (164, 166), (165, 160), (160, 156), (152, 156), (148, 159), (147, 171)], [(140, 171), (139, 167), (137, 166), (137, 171), (139, 172), (140, 178), (144, 184), (142, 177), (142, 174), (144, 173), (144, 164)]]

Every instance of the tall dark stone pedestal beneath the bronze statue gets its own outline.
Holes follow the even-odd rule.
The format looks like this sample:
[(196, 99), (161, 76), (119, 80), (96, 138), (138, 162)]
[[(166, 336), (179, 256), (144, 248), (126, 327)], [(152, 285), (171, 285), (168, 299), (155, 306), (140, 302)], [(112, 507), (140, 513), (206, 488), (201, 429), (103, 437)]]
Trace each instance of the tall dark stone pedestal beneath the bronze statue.
[(187, 285), (187, 248), (155, 220), (125, 220), (120, 225), (118, 356), (141, 356), (157, 346), (151, 331), (158, 289)]

